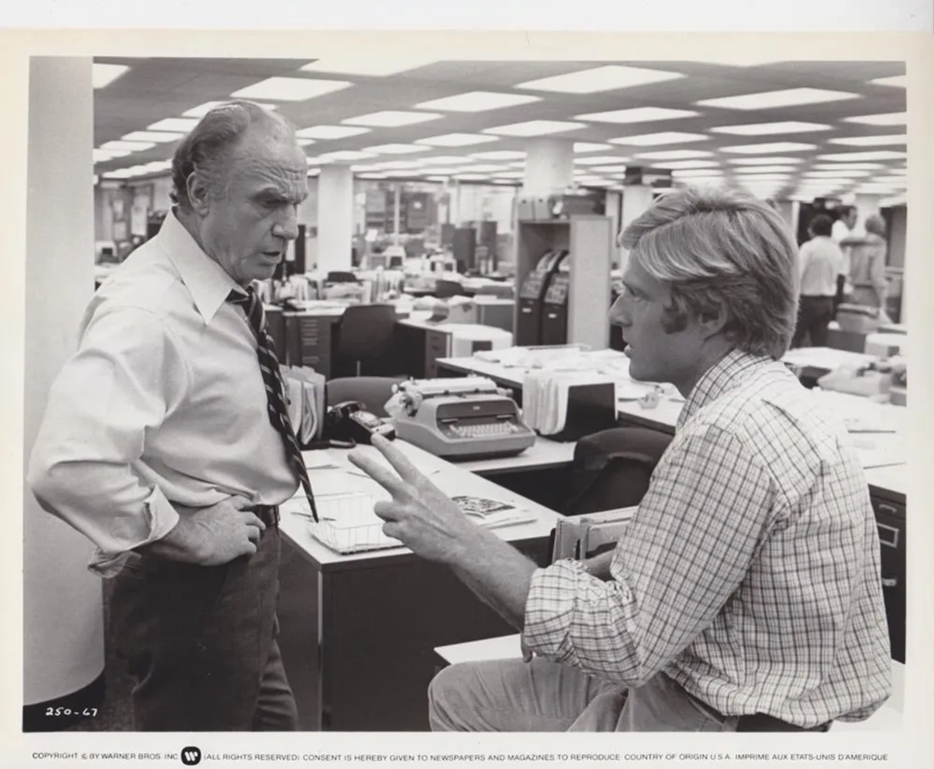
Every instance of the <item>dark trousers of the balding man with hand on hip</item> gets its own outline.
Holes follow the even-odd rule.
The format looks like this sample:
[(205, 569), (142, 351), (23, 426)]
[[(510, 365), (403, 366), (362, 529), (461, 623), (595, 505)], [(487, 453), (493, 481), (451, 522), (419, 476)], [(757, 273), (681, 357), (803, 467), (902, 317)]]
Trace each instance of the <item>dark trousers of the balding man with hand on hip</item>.
[(138, 731), (291, 731), (298, 716), (276, 645), (279, 532), (250, 557), (196, 566), (134, 554), (110, 600), (136, 680)]

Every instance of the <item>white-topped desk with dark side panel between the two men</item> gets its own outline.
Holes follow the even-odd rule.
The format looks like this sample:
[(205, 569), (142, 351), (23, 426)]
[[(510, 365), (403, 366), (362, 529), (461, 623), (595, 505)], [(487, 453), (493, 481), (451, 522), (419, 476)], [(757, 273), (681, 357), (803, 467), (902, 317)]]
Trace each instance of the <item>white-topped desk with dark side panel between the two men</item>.
[[(536, 563), (547, 563), (548, 535), (557, 513), (403, 441), (396, 445), (448, 494), (485, 496), (531, 511), (534, 522), (495, 531)], [(371, 447), (362, 450), (375, 452)], [(328, 452), (336, 462), (346, 463), (346, 451)], [(312, 464), (320, 456), (318, 451), (305, 452)], [(309, 471), (312, 485), (318, 472)], [(369, 488), (370, 483), (347, 475), (346, 491)], [(284, 514), (281, 530), (289, 547), (310, 564), (318, 599), (318, 697), (310, 698), (317, 699), (312, 728), (427, 730), (433, 648), (512, 631), (450, 569), (424, 561), (407, 548), (339, 555), (313, 539), (306, 520), (296, 515)], [(292, 589), (283, 582), (283, 592)], [(283, 634), (293, 633), (288, 617), (280, 617), (280, 622)], [(307, 638), (305, 654), (313, 654), (313, 643)], [(290, 660), (285, 659), (289, 669)], [(296, 699), (304, 715), (301, 710), (309, 697), (296, 691)]]

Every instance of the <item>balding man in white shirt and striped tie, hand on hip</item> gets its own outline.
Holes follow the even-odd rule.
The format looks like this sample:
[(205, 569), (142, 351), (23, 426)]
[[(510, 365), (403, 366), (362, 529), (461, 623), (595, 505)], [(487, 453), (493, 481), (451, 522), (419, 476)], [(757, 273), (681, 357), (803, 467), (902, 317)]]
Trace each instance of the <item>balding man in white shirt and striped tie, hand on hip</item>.
[(290, 730), (276, 506), (310, 490), (250, 283), (298, 234), (307, 163), (282, 118), (231, 102), (182, 140), (172, 174), (159, 234), (85, 313), (28, 480), (114, 578), (137, 729)]

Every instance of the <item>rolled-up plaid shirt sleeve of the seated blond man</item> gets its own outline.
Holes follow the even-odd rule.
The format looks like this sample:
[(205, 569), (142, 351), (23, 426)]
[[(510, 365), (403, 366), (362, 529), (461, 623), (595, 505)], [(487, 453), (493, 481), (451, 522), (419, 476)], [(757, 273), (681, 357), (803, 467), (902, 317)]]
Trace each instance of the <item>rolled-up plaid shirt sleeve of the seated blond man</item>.
[(639, 686), (715, 619), (772, 519), (771, 477), (719, 428), (672, 446), (616, 545), (612, 578), (559, 562), (532, 576), (523, 638), (542, 656)]

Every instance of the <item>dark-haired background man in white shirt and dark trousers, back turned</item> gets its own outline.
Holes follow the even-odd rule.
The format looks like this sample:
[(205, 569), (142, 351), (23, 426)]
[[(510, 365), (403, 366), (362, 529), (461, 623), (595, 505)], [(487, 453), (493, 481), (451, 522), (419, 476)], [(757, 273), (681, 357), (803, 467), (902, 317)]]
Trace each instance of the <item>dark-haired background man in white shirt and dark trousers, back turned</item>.
[(805, 339), (811, 347), (827, 347), (827, 328), (833, 320), (833, 299), (843, 260), (830, 229), (830, 217), (818, 214), (808, 228), (811, 239), (800, 249), (800, 304), (792, 347), (801, 347)]

